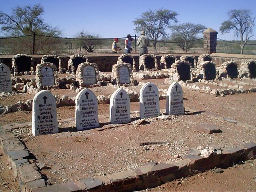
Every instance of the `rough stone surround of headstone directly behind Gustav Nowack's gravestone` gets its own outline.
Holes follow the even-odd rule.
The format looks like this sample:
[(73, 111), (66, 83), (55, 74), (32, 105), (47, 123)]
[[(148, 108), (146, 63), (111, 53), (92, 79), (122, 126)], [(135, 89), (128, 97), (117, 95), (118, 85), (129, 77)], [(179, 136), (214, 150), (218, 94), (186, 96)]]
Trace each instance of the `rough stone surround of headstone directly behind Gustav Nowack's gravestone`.
[[(41, 69), (42, 67), (50, 67), (52, 68), (53, 71), (53, 76), (54, 76), (54, 82), (55, 85), (52, 86), (43, 86), (42, 84), (42, 72)], [(58, 71), (57, 71), (57, 67), (55, 64), (53, 63), (40, 63), (36, 66), (36, 86), (39, 89), (48, 89), (48, 88), (57, 88), (60, 86), (60, 82), (59, 82), (59, 78), (58, 78)]]

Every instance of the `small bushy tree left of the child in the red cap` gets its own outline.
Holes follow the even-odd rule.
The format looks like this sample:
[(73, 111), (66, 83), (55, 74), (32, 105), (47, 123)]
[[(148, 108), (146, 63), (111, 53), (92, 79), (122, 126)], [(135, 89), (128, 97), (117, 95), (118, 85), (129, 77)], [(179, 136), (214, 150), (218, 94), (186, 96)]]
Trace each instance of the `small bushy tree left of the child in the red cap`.
[(84, 48), (84, 50), (86, 50), (89, 53), (94, 52), (95, 46), (102, 43), (102, 40), (99, 38), (99, 35), (90, 35), (84, 31), (80, 32), (80, 34), (77, 37), (84, 39), (80, 40), (80, 44)]

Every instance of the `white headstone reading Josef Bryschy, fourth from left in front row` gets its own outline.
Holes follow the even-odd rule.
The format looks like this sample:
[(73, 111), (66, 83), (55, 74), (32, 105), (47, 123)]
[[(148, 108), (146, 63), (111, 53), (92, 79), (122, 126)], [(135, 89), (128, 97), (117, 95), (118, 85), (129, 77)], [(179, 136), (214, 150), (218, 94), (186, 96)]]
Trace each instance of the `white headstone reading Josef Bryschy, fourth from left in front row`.
[(140, 89), (140, 118), (156, 117), (159, 114), (158, 88), (154, 83), (147, 82)]

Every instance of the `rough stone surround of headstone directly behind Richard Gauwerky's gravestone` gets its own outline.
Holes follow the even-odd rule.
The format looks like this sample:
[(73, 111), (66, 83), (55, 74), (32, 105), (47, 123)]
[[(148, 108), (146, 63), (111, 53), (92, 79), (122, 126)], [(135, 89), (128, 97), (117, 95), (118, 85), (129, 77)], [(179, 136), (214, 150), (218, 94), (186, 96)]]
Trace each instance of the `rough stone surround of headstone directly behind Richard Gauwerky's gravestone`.
[(78, 65), (78, 68), (76, 70), (76, 81), (79, 82), (80, 87), (91, 87), (92, 85), (84, 85), (84, 74), (83, 74), (83, 70), (86, 66), (92, 66), (95, 69), (95, 78), (96, 78), (96, 84), (97, 82), (100, 81), (100, 75), (99, 75), (99, 68), (98, 65), (96, 63), (89, 63), (89, 62), (84, 62), (84, 63), (80, 63)]

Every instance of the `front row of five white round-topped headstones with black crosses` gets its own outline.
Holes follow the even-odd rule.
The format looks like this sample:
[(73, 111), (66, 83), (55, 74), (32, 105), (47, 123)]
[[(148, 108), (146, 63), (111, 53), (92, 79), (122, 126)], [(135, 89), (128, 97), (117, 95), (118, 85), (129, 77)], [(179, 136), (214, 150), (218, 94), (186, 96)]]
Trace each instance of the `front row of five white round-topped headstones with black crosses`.
[[(54, 96), (42, 90), (34, 96), (32, 105), (32, 134), (38, 136), (57, 133), (57, 108)], [(184, 114), (183, 92), (177, 82), (173, 82), (168, 88), (166, 114)], [(140, 118), (159, 115), (158, 88), (148, 82), (140, 89)], [(97, 98), (88, 88), (81, 90), (76, 96), (75, 121), (77, 130), (89, 130), (100, 126)], [(130, 98), (124, 89), (118, 88), (110, 97), (110, 123), (124, 124), (130, 121)]]

